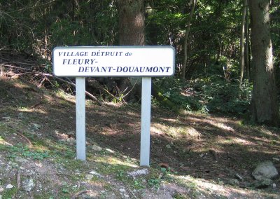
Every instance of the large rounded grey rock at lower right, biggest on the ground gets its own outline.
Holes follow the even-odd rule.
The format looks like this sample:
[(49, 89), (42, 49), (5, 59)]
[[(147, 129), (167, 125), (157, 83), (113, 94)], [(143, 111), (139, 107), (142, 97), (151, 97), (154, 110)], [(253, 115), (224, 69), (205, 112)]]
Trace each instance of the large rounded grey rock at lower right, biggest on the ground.
[(260, 163), (255, 170), (253, 170), (252, 175), (257, 180), (272, 179), (278, 175), (278, 172), (271, 161), (266, 161)]

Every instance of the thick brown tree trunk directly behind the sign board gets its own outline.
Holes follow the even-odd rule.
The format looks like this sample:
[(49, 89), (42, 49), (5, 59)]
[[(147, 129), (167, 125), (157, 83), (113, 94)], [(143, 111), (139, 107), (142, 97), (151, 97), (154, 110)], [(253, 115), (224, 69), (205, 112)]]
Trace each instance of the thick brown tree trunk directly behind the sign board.
[[(145, 17), (144, 0), (118, 0), (119, 11), (119, 43), (120, 46), (144, 46)], [(127, 95), (126, 100), (140, 97), (141, 78), (122, 78), (120, 90), (128, 92), (134, 86), (134, 92)], [(127, 89), (128, 88), (128, 89)], [(124, 93), (125, 94), (125, 93)]]

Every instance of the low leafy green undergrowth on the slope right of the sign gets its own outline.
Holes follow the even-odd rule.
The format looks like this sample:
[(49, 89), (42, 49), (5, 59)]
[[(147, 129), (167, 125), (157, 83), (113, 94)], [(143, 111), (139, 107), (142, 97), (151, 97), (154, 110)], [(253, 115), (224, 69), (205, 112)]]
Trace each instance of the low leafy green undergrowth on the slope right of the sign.
[(238, 81), (228, 81), (214, 75), (195, 83), (183, 83), (176, 78), (160, 78), (155, 84), (162, 95), (179, 109), (187, 111), (242, 115), (248, 111), (251, 101), (251, 86), (240, 87)]

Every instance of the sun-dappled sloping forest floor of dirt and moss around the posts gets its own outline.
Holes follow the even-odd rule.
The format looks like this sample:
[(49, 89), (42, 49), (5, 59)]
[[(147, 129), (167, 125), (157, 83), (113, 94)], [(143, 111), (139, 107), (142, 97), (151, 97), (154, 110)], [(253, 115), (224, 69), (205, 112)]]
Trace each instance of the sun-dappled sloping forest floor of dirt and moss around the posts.
[(144, 169), (139, 104), (87, 99), (81, 162), (75, 97), (3, 76), (0, 95), (0, 198), (280, 198), (279, 177), (255, 188), (251, 174), (265, 160), (280, 171), (279, 128), (153, 106), (151, 167), (131, 179)]

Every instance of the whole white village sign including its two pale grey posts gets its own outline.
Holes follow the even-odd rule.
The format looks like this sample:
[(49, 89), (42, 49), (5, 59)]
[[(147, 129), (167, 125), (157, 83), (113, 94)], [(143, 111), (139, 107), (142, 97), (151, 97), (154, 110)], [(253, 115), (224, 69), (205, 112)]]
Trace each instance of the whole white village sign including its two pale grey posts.
[(150, 158), (151, 77), (172, 76), (175, 50), (172, 46), (57, 47), (52, 51), (56, 76), (76, 77), (76, 151), (85, 160), (85, 77), (141, 76), (140, 165)]

